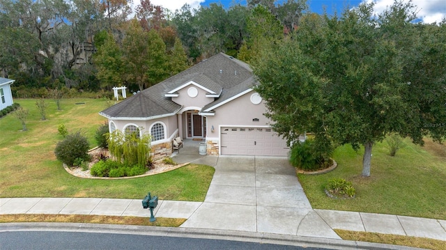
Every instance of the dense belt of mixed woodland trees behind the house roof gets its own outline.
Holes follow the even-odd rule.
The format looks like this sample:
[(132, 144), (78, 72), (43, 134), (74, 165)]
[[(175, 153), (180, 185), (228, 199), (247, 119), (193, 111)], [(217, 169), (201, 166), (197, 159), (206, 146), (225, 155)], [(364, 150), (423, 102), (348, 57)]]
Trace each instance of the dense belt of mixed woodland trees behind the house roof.
[[(131, 6), (130, 0), (0, 0), (0, 72), (16, 80), (13, 95), (63, 86), (85, 91), (121, 84), (146, 88), (220, 52), (236, 57), (245, 49), (252, 54), (246, 49), (257, 48), (253, 41), (262, 32), (282, 36), (297, 27), (307, 8), (305, 0), (249, 1), (230, 8), (185, 4), (175, 13), (150, 0), (142, 0), (134, 13)], [(261, 19), (266, 13), (270, 17)], [(274, 29), (268, 33), (270, 24)], [(155, 41), (141, 42), (149, 33)], [(157, 55), (150, 46), (163, 50)], [(147, 61), (160, 64), (139, 66)]]

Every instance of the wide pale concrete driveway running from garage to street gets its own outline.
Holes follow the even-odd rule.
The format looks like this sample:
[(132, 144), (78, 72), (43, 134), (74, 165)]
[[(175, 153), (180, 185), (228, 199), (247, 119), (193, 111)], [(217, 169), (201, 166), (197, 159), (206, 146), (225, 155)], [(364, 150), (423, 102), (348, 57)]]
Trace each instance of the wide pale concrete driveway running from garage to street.
[(285, 157), (206, 156), (205, 201), (181, 227), (339, 238), (312, 209)]

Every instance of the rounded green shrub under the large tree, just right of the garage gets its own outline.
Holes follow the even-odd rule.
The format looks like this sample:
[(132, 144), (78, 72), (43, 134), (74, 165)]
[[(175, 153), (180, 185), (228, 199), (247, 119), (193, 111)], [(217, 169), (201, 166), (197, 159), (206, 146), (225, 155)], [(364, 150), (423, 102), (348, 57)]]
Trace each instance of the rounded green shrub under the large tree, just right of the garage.
[(307, 139), (298, 142), (291, 148), (291, 165), (306, 171), (326, 169), (332, 165), (332, 146), (329, 141), (318, 142), (315, 139)]

